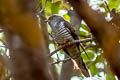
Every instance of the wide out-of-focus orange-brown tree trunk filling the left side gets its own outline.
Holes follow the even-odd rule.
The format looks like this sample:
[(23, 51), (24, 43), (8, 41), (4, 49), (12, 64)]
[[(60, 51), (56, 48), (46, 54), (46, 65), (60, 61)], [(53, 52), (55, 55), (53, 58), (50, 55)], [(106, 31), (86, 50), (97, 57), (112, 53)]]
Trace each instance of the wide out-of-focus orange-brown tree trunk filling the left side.
[(0, 24), (10, 51), (8, 66), (15, 80), (51, 80), (45, 41), (34, 6), (34, 0), (0, 1)]

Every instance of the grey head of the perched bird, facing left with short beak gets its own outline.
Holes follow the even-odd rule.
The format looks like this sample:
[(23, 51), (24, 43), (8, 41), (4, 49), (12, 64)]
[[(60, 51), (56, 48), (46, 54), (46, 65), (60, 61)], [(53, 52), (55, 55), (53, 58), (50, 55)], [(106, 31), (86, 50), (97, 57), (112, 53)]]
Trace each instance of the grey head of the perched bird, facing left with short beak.
[(64, 19), (58, 15), (52, 15), (48, 18), (48, 24), (51, 28), (55, 28), (61, 21), (64, 21)]

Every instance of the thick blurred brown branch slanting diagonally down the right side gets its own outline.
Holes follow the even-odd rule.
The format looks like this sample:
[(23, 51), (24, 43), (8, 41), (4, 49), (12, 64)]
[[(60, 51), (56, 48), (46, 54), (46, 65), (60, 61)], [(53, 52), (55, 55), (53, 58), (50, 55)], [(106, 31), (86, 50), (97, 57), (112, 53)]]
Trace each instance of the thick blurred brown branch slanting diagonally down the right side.
[[(114, 73), (120, 79), (120, 31), (108, 24), (103, 15), (92, 10), (85, 0), (68, 0), (74, 10), (82, 18), (104, 51), (104, 56)], [(118, 46), (119, 45), (119, 46)], [(117, 65), (116, 65), (117, 64)]]

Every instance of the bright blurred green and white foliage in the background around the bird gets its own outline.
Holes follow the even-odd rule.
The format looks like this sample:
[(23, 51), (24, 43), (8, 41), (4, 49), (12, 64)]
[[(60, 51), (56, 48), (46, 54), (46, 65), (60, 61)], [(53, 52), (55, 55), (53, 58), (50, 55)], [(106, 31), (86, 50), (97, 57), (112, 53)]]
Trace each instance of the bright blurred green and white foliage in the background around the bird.
[[(69, 22), (72, 19), (68, 15), (68, 11), (73, 10), (73, 8), (69, 5), (68, 2), (66, 2), (66, 0), (36, 0), (37, 6), (39, 6), (41, 1), (42, 1), (42, 7), (45, 6), (45, 2), (47, 1), (45, 9), (44, 9), (46, 18), (48, 18), (49, 16), (51, 16), (53, 14), (58, 14), (58, 15), (63, 16)], [(106, 8), (106, 5), (104, 4), (104, 0), (88, 0), (88, 2), (94, 10), (96, 10), (96, 11), (102, 13), (103, 15), (105, 15), (105, 17), (107, 19), (111, 18), (109, 16), (109, 12)], [(119, 0), (107, 0), (107, 2), (108, 2), (108, 6), (109, 6), (110, 10), (112, 10), (113, 8), (116, 8), (116, 10), (119, 12), (119, 9), (120, 9), (120, 1)], [(40, 11), (40, 10), (41, 10), (40, 7), (37, 8), (37, 11)], [(50, 33), (51, 29), (50, 29), (49, 25), (47, 25), (47, 29), (48, 29), (48, 32)], [(31, 34), (31, 35), (33, 35), (33, 34)], [(90, 29), (84, 23), (84, 21), (81, 21), (81, 25), (80, 25), (78, 35), (79, 35), (80, 39), (93, 38), (93, 35), (90, 32)], [(33, 42), (35, 42), (35, 41), (33, 41)], [(6, 50), (6, 46), (5, 46), (4, 43), (5, 43), (4, 34), (0, 33), (0, 50), (1, 50), (1, 53), (8, 54), (9, 51)], [(91, 79), (92, 80), (96, 80), (96, 79), (98, 79), (98, 80), (104, 80), (104, 79), (105, 80), (116, 80), (117, 78), (110, 71), (109, 65), (107, 64), (106, 60), (103, 57), (103, 51), (102, 51), (101, 48), (98, 47), (98, 44), (95, 41), (90, 41), (90, 42), (83, 43), (83, 45), (84, 46), (92, 45), (91, 47), (89, 47), (85, 50), (88, 57), (85, 54), (85, 52), (82, 52), (82, 58), (84, 59), (84, 61), (86, 62), (87, 66), (89, 68), (89, 72), (92, 76)], [(49, 35), (49, 49), (50, 49), (50, 52), (54, 51), (57, 47), (58, 46), (56, 46), (53, 43), (52, 38)], [(82, 50), (82, 49), (80, 49), (80, 50)], [(54, 62), (56, 62), (56, 61), (59, 61), (59, 60), (63, 60), (64, 56), (65, 56), (64, 52), (62, 50), (60, 50), (59, 52), (57, 52), (56, 54), (54, 54), (52, 56), (52, 59), (54, 60)], [(60, 75), (62, 64), (58, 63), (58, 64), (55, 64), (55, 65), (56, 65), (56, 71)], [(8, 73), (6, 73), (6, 74), (9, 75)], [(74, 75), (71, 77), (71, 80), (76, 80), (76, 79), (88, 80), (87, 78), (85, 78), (81, 74), (78, 75), (77, 77), (74, 76)]]

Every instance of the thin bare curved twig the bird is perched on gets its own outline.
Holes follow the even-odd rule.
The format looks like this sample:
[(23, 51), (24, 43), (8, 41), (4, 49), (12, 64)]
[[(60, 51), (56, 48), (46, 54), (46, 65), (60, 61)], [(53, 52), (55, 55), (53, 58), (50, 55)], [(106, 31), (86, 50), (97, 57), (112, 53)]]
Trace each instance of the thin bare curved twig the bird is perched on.
[(88, 41), (93, 41), (92, 38), (88, 38), (88, 39), (83, 39), (83, 40), (73, 40), (71, 41), (70, 43), (66, 43), (60, 47), (58, 47), (55, 51), (53, 51), (52, 53), (50, 53), (49, 57), (51, 57), (53, 54), (55, 54), (57, 51), (61, 50), (61, 49), (64, 49), (65, 47), (67, 46), (70, 46), (70, 45), (73, 45), (73, 44), (76, 44), (76, 43), (83, 43), (83, 42), (88, 42)]

